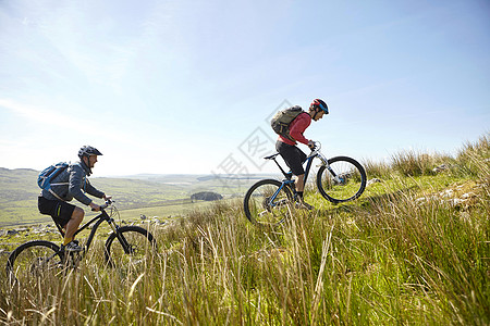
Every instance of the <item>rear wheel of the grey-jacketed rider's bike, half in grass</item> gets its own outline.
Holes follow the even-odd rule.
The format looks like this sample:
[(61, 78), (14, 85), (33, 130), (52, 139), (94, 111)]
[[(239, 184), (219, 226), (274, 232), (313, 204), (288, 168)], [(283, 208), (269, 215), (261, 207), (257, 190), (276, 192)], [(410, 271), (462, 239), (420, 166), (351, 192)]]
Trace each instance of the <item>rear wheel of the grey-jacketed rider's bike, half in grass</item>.
[(58, 244), (46, 240), (33, 240), (19, 246), (7, 261), (7, 274), (11, 280), (36, 280), (46, 272), (60, 271), (62, 267), (63, 252)]

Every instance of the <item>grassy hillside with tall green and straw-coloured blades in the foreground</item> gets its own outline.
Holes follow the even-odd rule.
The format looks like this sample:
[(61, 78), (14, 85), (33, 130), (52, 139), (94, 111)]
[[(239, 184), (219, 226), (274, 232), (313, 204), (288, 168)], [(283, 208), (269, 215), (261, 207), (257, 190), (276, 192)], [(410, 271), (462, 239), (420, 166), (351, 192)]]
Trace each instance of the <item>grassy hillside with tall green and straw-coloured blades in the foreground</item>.
[[(455, 158), (404, 152), (366, 164), (381, 181), (355, 202), (292, 210), (275, 227), (220, 201), (152, 226), (159, 255), (11, 288), (7, 324), (489, 325), (490, 143)], [(440, 162), (440, 161), (444, 162)], [(446, 164), (440, 173), (436, 165)]]

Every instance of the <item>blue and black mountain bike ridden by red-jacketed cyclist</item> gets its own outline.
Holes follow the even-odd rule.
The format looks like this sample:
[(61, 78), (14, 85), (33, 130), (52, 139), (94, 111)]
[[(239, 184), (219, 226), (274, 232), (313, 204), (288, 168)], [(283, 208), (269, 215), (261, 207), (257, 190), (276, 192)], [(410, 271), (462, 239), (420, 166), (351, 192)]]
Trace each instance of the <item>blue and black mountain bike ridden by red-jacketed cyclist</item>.
[[(320, 160), (317, 173), (317, 188), (321, 196), (338, 204), (357, 199), (366, 188), (366, 171), (356, 160), (347, 156), (327, 159), (320, 151), (321, 143), (306, 158), (305, 185), (314, 159)], [(292, 208), (296, 206), (295, 187), (292, 172), (285, 172), (275, 160), (279, 153), (264, 158), (272, 160), (284, 175), (284, 179), (264, 179), (250, 187), (245, 195), (244, 211), (246, 217), (255, 224), (282, 223)]]

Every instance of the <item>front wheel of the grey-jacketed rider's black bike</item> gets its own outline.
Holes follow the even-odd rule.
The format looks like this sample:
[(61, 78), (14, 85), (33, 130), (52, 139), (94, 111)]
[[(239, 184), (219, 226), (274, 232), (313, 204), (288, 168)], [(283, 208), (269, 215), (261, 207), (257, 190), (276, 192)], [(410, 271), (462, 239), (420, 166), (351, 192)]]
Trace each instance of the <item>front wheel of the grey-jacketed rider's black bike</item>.
[(143, 227), (130, 225), (120, 227), (118, 234), (109, 236), (105, 258), (106, 263), (112, 267), (127, 266), (146, 262), (156, 251), (154, 236)]

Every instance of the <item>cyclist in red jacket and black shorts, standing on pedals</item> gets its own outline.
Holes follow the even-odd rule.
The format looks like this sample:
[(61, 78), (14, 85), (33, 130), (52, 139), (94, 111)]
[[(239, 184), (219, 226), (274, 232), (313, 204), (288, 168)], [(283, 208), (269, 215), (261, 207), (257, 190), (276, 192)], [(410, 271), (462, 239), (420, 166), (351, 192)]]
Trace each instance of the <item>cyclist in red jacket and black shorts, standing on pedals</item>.
[(307, 155), (299, 148), (297, 148), (296, 145), (297, 142), (302, 142), (310, 149), (315, 147), (314, 141), (306, 139), (303, 133), (305, 133), (306, 128), (309, 127), (311, 120), (319, 121), (323, 117), (323, 114), (329, 114), (329, 108), (322, 100), (315, 99), (309, 105), (308, 112), (301, 113), (291, 122), (290, 136), (293, 140), (284, 136), (279, 136), (275, 143), (275, 149), (296, 176), (296, 180), (294, 183), (296, 188), (296, 201), (299, 203), (299, 206), (308, 210), (311, 210), (313, 206), (307, 204), (303, 199), (303, 191), (305, 189), (305, 170), (303, 167), (303, 163), (305, 162)]

